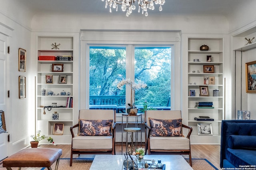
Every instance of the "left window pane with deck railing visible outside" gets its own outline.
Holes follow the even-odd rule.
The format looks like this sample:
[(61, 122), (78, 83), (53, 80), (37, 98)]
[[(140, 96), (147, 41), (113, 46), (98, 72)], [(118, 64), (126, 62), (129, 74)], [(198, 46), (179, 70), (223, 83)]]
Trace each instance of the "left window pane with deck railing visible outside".
[(125, 88), (116, 87), (125, 78), (125, 61), (125, 47), (90, 47), (90, 109), (125, 107)]

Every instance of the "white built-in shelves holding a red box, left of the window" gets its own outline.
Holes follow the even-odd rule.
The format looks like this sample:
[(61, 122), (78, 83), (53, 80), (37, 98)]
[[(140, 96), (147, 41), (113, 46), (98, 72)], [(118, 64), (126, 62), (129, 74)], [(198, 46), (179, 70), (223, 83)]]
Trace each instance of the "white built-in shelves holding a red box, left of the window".
[[(52, 49), (53, 43), (60, 45), (60, 49)], [(55, 143), (71, 143), (70, 127), (73, 125), (73, 107), (66, 107), (68, 98), (73, 98), (73, 60), (72, 61), (48, 61), (39, 60), (39, 56), (73, 56), (74, 53), (73, 36), (37, 36), (37, 78), (36, 78), (36, 130), (41, 130), (42, 134), (54, 138)], [(52, 64), (63, 64), (63, 72), (52, 72)], [(52, 75), (52, 83), (46, 83), (46, 75)], [(66, 76), (66, 83), (60, 84), (60, 76)], [(46, 90), (42, 96), (42, 89)], [(54, 95), (48, 95), (48, 92)], [(61, 95), (65, 91), (66, 95)], [(68, 96), (68, 92), (70, 95)], [(57, 107), (52, 106), (57, 103)], [(74, 104), (74, 102), (73, 102)], [(61, 107), (60, 107), (61, 106)], [(62, 107), (63, 106), (63, 107)], [(44, 114), (45, 111), (45, 114)], [(52, 119), (52, 113), (57, 111), (58, 120)], [(53, 135), (55, 123), (64, 123), (62, 135)]]

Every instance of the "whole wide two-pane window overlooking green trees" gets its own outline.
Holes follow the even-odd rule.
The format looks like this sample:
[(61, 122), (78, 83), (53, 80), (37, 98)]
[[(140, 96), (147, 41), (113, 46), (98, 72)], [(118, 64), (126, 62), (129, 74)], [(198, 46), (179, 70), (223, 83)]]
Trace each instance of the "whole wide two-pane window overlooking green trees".
[[(90, 46), (90, 109), (116, 109), (125, 113), (126, 89), (117, 84), (126, 78), (126, 68), (134, 68), (131, 80), (142, 81), (147, 88), (136, 90), (135, 103), (141, 111), (147, 102), (151, 109), (170, 109), (171, 48), (134, 46), (126, 63), (126, 46)], [(129, 78), (129, 77), (127, 77)], [(130, 97), (129, 95), (127, 97)]]

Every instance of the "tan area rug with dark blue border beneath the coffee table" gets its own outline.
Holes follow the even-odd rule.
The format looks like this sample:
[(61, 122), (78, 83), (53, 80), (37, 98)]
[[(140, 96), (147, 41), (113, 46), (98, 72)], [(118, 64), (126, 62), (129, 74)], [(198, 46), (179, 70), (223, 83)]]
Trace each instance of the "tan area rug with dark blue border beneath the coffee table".
[[(188, 159), (185, 159), (187, 162)], [(60, 159), (58, 170), (89, 170), (93, 159), (90, 158), (74, 158), (72, 166), (70, 167), (70, 159)], [(52, 169), (55, 168), (55, 163), (52, 165)], [(207, 159), (192, 159), (192, 168), (194, 170), (218, 170), (211, 162)], [(41, 170), (46, 170), (42, 168)], [(168, 170), (166, 168), (166, 170)]]

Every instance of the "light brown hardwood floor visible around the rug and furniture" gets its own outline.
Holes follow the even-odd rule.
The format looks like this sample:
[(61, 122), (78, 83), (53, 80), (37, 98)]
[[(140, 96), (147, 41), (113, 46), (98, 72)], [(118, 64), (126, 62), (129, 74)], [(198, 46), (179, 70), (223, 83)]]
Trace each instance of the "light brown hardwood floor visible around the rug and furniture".
[[(41, 145), (40, 147), (60, 148), (62, 149), (61, 158), (70, 158), (71, 145)], [(121, 144), (116, 144), (116, 154), (121, 154)], [(191, 145), (191, 155), (192, 158), (205, 158), (221, 170), (220, 145)], [(74, 155), (73, 157), (76, 158), (77, 156)], [(184, 158), (188, 158), (188, 156), (184, 155)]]

